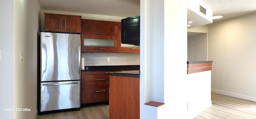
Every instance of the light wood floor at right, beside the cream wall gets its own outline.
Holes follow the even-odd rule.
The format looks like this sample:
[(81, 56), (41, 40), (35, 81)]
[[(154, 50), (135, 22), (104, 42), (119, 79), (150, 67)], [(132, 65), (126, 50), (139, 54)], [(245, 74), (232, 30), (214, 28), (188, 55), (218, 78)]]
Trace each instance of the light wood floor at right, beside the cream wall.
[(194, 119), (256, 119), (256, 102), (212, 93), (212, 106)]

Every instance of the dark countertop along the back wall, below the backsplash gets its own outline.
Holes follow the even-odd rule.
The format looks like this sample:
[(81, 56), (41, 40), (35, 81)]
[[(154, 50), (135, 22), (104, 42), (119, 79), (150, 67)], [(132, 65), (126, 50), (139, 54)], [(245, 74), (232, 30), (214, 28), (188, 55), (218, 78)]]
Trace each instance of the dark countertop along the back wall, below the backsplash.
[(118, 66), (84, 66), (84, 71), (114, 71), (114, 70), (140, 70), (140, 65), (118, 65)]

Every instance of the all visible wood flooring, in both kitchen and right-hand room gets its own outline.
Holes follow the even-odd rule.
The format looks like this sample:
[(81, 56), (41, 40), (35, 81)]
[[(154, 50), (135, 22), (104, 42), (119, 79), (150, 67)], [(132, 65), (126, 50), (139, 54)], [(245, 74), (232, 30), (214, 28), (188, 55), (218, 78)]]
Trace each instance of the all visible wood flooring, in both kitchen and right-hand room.
[[(109, 105), (38, 115), (36, 119), (109, 119)], [(256, 119), (256, 102), (212, 93), (212, 106), (194, 119)]]

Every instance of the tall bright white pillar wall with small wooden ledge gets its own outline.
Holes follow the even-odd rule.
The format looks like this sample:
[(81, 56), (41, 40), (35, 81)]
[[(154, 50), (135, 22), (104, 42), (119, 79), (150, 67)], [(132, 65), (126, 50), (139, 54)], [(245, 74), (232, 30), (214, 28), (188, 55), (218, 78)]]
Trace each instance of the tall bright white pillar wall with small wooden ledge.
[[(140, 0), (141, 119), (186, 117), (187, 6), (184, 3), (186, 0)], [(165, 105), (144, 105), (148, 101)]]

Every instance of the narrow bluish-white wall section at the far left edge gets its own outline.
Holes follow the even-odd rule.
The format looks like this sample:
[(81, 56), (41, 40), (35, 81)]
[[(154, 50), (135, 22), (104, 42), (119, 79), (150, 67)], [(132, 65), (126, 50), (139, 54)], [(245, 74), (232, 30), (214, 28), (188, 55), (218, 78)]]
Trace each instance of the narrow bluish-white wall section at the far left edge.
[(14, 119), (14, 0), (0, 4), (0, 119)]

